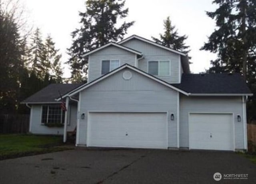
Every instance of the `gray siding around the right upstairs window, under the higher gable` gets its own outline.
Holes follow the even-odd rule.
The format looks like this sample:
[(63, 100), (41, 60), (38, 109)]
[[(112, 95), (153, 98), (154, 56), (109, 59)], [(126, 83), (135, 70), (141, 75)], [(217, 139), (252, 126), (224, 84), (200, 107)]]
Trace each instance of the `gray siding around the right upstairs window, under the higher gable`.
[(170, 76), (156, 76), (169, 83), (179, 82), (179, 55), (160, 47), (156, 47), (152, 44), (140, 41), (138, 39), (131, 39), (122, 45), (135, 49), (143, 53), (144, 59), (138, 61), (138, 68), (144, 72), (148, 72), (148, 61), (166, 61), (171, 63)]

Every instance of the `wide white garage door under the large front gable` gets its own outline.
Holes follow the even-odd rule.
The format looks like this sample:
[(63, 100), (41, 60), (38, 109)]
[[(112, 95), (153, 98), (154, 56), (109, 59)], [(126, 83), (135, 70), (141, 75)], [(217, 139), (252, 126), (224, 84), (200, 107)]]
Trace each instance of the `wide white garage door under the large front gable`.
[(167, 148), (166, 113), (89, 113), (88, 146)]

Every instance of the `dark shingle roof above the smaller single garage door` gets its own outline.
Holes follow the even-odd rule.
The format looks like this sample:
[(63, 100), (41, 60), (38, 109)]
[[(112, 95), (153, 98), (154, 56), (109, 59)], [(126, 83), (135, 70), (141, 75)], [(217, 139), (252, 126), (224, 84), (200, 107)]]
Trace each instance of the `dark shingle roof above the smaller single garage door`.
[(172, 84), (188, 93), (250, 94), (241, 74), (183, 74), (180, 84)]

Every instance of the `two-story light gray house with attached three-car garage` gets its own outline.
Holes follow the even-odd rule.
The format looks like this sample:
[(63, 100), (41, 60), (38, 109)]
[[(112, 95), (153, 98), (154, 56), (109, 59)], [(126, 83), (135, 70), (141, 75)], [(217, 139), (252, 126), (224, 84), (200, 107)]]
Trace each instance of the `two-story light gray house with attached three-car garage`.
[(76, 127), (76, 145), (88, 147), (247, 149), (241, 74), (191, 74), (186, 54), (137, 35), (84, 57), (86, 84), (51, 84), (22, 102), (31, 133), (66, 141)]

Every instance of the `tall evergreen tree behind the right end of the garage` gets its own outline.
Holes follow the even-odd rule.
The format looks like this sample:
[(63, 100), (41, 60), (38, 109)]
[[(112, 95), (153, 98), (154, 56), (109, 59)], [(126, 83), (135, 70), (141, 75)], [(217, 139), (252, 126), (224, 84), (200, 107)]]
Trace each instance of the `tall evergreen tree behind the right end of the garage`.
[(256, 119), (256, 1), (214, 0), (218, 8), (206, 14), (216, 29), (202, 50), (217, 53), (208, 72), (241, 72), (254, 93), (248, 102), (248, 117)]

